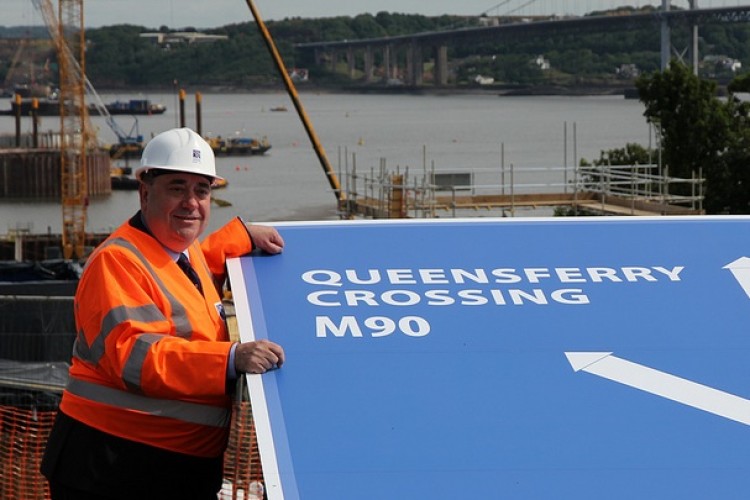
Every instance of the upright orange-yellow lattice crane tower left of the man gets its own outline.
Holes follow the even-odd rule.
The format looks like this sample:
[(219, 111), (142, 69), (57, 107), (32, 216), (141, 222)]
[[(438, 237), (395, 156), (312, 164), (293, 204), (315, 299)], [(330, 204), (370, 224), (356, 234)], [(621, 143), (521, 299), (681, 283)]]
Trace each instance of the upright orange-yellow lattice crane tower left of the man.
[[(60, 67), (60, 170), (62, 249), (66, 259), (84, 257), (88, 207), (87, 152), (96, 146), (86, 106), (83, 0), (32, 0), (42, 13)], [(71, 42), (68, 42), (70, 34)], [(77, 55), (74, 54), (75, 48)]]

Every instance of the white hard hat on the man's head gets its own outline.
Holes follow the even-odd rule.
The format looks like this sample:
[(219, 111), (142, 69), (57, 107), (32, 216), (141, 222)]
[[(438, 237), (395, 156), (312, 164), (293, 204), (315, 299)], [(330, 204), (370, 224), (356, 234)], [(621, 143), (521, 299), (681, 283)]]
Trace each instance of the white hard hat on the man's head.
[(203, 175), (214, 182), (223, 180), (216, 175), (211, 146), (187, 127), (162, 132), (146, 144), (141, 155), (141, 166), (135, 170), (136, 178), (140, 179), (144, 172), (151, 169)]

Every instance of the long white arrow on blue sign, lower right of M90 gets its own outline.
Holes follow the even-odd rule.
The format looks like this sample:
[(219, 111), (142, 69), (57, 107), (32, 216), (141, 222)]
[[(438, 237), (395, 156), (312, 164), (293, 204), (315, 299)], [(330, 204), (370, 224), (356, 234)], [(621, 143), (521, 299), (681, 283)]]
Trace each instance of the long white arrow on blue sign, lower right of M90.
[(745, 425), (750, 425), (750, 400), (654, 370), (611, 352), (566, 352), (573, 370), (635, 387)]

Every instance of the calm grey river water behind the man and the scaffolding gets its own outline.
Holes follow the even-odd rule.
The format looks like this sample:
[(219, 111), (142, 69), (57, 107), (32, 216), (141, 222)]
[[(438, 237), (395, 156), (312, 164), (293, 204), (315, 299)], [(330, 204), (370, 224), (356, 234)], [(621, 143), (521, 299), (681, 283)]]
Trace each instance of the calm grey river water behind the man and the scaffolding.
[[(146, 98), (167, 106), (158, 116), (116, 116), (126, 132), (137, 125), (145, 137), (179, 124), (176, 95), (102, 94), (104, 102)], [(510, 165), (534, 172), (540, 167), (567, 167), (592, 160), (602, 150), (635, 142), (651, 144), (650, 128), (638, 100), (622, 96), (360, 95), (300, 93), (330, 164), (344, 182), (344, 171), (356, 165), (367, 172), (389, 170), (470, 172), (478, 185), (499, 182)], [(8, 107), (9, 107), (8, 103)], [(288, 111), (272, 111), (285, 106)], [(235, 215), (253, 221), (336, 219), (336, 197), (288, 95), (203, 94), (204, 135), (267, 137), (263, 156), (218, 158), (217, 169), (229, 185), (215, 196), (231, 203), (214, 206), (210, 228)], [(195, 96), (185, 100), (185, 120), (196, 127)], [(116, 136), (101, 117), (92, 117), (104, 143)], [(30, 120), (22, 123), (31, 130)], [(58, 130), (59, 118), (45, 117), (40, 130)], [(0, 117), (0, 133), (13, 133), (12, 117)], [(136, 165), (133, 160), (131, 165)], [(539, 170), (516, 182), (564, 182), (563, 174)], [(87, 230), (104, 232), (136, 209), (135, 191), (116, 191), (94, 199)], [(57, 203), (0, 201), (0, 233), (12, 228), (59, 233)]]

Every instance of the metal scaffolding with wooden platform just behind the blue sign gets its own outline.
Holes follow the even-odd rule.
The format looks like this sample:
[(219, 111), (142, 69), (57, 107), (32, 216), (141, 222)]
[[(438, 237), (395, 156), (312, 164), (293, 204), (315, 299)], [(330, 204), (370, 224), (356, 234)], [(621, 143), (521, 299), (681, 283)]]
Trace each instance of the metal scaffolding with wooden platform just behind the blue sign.
[[(570, 215), (703, 215), (705, 180), (671, 177), (658, 165), (501, 167), (499, 171), (368, 172), (356, 162), (342, 174), (342, 218), (514, 217), (546, 209)], [(486, 182), (484, 182), (486, 181)], [(551, 215), (551, 214), (547, 214)]]

